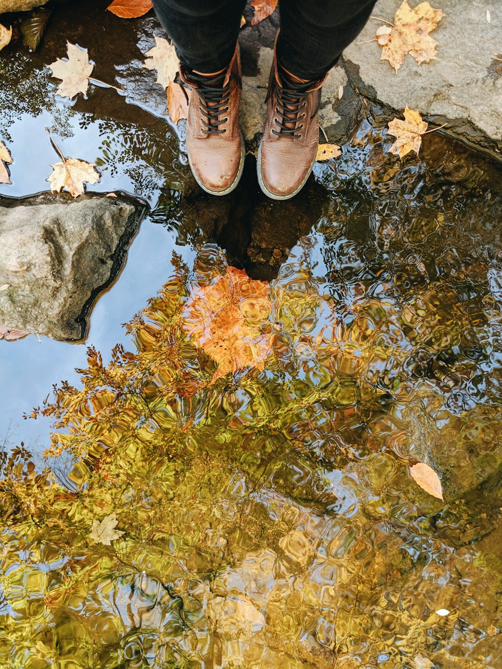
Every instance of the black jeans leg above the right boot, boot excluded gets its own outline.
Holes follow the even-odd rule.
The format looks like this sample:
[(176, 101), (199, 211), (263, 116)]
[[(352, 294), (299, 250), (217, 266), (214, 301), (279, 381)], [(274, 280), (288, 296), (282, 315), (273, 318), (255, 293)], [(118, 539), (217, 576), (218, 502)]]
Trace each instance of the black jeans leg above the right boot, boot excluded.
[(277, 57), (301, 79), (321, 79), (359, 35), (376, 0), (280, 0)]

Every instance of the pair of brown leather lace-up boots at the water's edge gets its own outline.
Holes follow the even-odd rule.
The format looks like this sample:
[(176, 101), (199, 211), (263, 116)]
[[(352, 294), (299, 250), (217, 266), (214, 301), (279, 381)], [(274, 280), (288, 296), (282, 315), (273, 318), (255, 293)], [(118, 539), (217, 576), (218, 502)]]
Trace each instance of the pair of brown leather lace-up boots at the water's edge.
[[(227, 195), (240, 181), (246, 148), (239, 124), (242, 89), (239, 47), (226, 70), (199, 74), (181, 66), (192, 92), (187, 153), (193, 176), (212, 195)], [(258, 150), (258, 182), (276, 200), (296, 195), (312, 171), (319, 142), (321, 86), (281, 68), (274, 49), (268, 82), (267, 120)]]

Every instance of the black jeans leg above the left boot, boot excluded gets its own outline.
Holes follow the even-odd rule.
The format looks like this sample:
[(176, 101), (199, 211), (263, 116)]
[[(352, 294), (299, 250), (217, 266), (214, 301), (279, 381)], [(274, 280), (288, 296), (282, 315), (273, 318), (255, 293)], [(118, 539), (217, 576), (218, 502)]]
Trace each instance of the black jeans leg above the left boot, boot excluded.
[(207, 74), (228, 68), (244, 5), (246, 0), (153, 0), (181, 64)]

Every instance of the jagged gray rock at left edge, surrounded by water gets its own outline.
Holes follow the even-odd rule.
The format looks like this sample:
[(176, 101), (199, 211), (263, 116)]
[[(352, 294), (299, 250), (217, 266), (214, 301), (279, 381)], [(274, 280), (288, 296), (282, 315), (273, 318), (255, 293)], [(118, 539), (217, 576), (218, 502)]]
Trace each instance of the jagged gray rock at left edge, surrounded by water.
[(145, 205), (132, 197), (42, 193), (0, 198), (0, 324), (83, 339), (94, 302), (118, 276)]

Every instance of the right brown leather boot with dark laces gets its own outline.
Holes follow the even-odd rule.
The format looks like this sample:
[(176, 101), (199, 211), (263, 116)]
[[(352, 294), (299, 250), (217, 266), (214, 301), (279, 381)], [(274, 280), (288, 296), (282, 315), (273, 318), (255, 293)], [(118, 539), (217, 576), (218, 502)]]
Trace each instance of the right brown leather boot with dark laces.
[(326, 76), (305, 81), (274, 63), (268, 82), (267, 120), (258, 149), (260, 188), (274, 200), (287, 200), (305, 185), (319, 145), (317, 112)]

